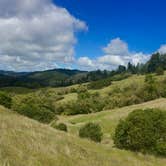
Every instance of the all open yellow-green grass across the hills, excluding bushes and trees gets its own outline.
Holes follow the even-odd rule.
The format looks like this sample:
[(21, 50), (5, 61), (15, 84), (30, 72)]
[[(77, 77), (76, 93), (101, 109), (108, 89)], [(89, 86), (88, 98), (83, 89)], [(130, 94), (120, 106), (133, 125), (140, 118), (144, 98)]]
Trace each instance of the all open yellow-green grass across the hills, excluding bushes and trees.
[[(165, 75), (157, 76), (158, 80)], [(109, 97), (116, 87), (125, 89), (132, 85), (141, 87), (144, 76), (132, 76), (122, 81), (113, 82), (111, 86), (89, 90)], [(26, 95), (40, 96), (42, 93), (51, 96), (55, 104), (77, 100), (77, 93), (71, 88), (43, 88), (29, 90), (24, 88), (3, 88), (11, 93), (15, 100)], [(2, 90), (2, 89), (1, 89)], [(60, 100), (57, 100), (58, 97)], [(59, 122), (67, 124), (68, 133), (57, 131), (49, 125), (20, 116), (0, 106), (0, 166), (165, 166), (166, 159), (114, 147), (112, 137), (120, 119), (125, 118), (135, 109), (161, 108), (166, 110), (166, 99), (160, 98), (150, 102), (116, 108), (98, 113), (59, 116)], [(78, 137), (79, 128), (87, 122), (101, 125), (104, 133), (100, 144)]]

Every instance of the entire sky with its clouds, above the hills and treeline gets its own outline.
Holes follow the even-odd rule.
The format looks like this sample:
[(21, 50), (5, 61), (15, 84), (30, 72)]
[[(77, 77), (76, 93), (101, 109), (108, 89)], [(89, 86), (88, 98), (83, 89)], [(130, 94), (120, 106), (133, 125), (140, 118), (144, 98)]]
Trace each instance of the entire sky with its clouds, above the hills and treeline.
[(165, 0), (0, 0), (0, 70), (107, 69), (166, 53)]

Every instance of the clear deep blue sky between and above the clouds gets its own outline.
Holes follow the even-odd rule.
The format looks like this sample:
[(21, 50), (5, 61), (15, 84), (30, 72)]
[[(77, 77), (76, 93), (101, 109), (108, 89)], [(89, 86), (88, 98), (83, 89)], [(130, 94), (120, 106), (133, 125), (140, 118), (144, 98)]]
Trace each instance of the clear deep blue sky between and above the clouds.
[(165, 0), (54, 1), (88, 25), (88, 32), (78, 35), (77, 56), (100, 56), (101, 47), (116, 37), (145, 53), (166, 43)]

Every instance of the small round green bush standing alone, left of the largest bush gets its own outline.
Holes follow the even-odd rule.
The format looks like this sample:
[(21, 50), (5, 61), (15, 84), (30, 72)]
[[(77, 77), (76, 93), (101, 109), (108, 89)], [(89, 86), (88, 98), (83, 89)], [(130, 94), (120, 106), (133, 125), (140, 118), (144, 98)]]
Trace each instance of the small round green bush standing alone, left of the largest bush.
[(87, 123), (85, 126), (80, 128), (79, 136), (82, 138), (89, 138), (95, 142), (101, 142), (103, 133), (98, 124)]

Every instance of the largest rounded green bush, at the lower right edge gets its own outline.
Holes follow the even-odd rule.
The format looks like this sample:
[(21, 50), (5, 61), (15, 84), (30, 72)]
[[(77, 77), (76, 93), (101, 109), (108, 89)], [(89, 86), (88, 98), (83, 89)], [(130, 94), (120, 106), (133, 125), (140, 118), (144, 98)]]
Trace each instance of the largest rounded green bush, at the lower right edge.
[(115, 130), (118, 148), (166, 156), (166, 112), (135, 110)]

